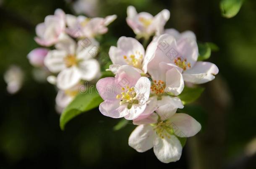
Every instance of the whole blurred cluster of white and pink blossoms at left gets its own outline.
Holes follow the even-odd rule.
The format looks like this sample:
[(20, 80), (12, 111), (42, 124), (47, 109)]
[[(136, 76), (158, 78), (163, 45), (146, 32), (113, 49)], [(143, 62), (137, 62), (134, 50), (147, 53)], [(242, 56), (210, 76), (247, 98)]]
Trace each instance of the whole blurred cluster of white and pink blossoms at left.
[(76, 17), (57, 9), (54, 15), (48, 15), (37, 25), (35, 41), (44, 48), (32, 50), (28, 54), (29, 62), (46, 72), (47, 81), (57, 86), (59, 112), (79, 93), (83, 81), (99, 78), (100, 66), (95, 59), (99, 42), (95, 37), (106, 33), (107, 25), (115, 18), (116, 15)]

